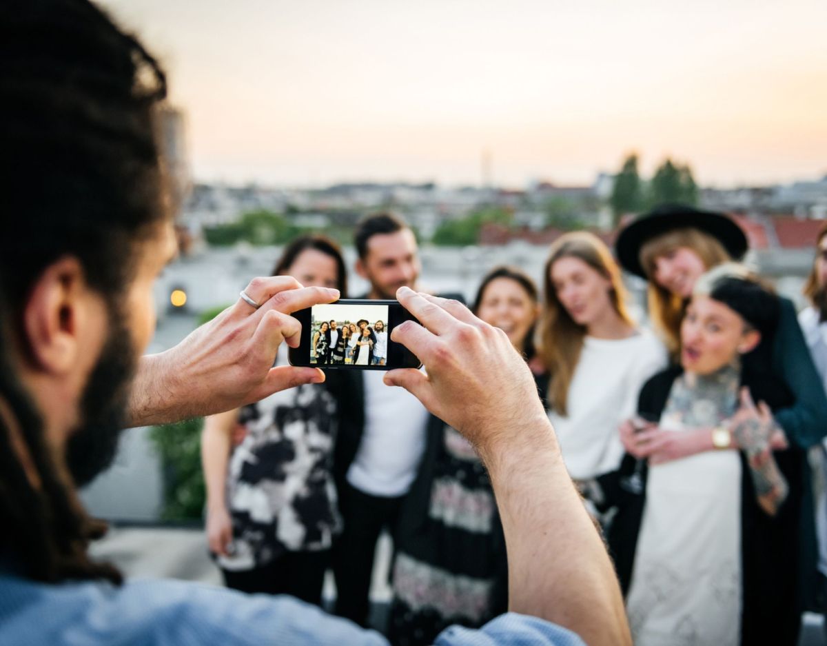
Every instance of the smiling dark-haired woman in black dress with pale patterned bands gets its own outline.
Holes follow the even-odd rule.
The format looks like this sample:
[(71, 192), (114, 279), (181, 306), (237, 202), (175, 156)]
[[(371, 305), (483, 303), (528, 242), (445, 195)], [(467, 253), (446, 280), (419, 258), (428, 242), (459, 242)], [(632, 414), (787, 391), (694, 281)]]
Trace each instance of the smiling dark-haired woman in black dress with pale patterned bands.
[[(499, 267), (485, 275), (474, 312), (533, 359), (538, 292), (522, 271)], [(545, 375), (535, 379), (545, 393)], [(447, 625), (479, 626), (508, 608), (505, 542), (488, 475), (471, 444), (440, 419), (428, 425), (395, 540), (393, 644), (432, 644)]]

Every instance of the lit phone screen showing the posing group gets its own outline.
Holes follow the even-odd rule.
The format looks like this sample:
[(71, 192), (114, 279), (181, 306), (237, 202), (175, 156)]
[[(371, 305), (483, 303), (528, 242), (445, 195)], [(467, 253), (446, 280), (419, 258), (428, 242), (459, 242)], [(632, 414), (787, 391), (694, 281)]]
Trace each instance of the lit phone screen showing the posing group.
[(388, 305), (314, 305), (310, 330), (311, 366), (385, 366), (388, 361)]

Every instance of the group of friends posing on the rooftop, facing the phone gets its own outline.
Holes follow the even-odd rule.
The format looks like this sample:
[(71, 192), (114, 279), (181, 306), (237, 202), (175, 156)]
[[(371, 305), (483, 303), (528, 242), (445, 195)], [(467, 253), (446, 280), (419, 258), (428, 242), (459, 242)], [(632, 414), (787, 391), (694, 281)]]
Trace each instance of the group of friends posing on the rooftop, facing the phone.
[[(294, 245), (308, 239), (323, 240)], [(366, 218), (355, 242), (367, 298), (416, 289), (417, 247), (404, 221)], [(791, 302), (737, 262), (747, 248), (724, 214), (664, 205), (619, 232), (619, 261), (595, 235), (567, 233), (549, 250), (542, 292), (522, 270), (497, 267), (471, 307), (504, 330), (534, 375), (567, 471), (605, 532), (636, 644), (758, 644), (767, 635), (795, 644), (813, 598), (805, 450), (827, 430), (825, 382)], [(819, 258), (816, 266), (827, 265)], [(327, 264), (340, 266), (333, 255)], [(648, 280), (648, 326), (629, 313), (621, 269)], [(823, 273), (810, 278), (814, 307), (827, 291)], [(820, 317), (806, 310), (802, 324), (817, 329)], [(314, 342), (334, 323), (322, 323)], [(827, 347), (821, 334), (809, 336)], [(224, 424), (221, 477), (213, 485), (208, 477), (208, 534), (216, 553), (233, 546), (220, 561), (227, 585), (233, 567), (266, 567), (280, 591), (308, 599), (290, 587), (289, 563), (296, 552), (315, 553), (334, 572), (334, 610), (366, 625), (385, 529), (394, 539), (391, 643), (429, 644), (448, 625), (480, 626), (504, 612), (506, 542), (474, 447), (380, 374), (331, 373), (308, 389), (326, 405), (298, 390), (292, 406), (274, 411), (265, 400)], [(322, 410), (328, 427), (320, 431)], [(246, 419), (254, 421), (228, 460), (232, 427)], [(299, 460), (306, 454), (313, 461)], [(286, 474), (292, 500), (270, 486), (268, 456), (290, 457), (268, 468)], [(244, 461), (256, 464), (250, 476)], [(237, 500), (226, 506), (232, 539), (214, 530), (212, 501), (223, 500), (225, 473)], [(326, 494), (313, 496), (308, 485), (322, 481)], [(255, 521), (252, 500), (270, 502)], [(226, 512), (219, 517), (228, 527)], [(314, 531), (324, 540), (296, 547), (280, 538)], [(250, 559), (250, 536), (275, 547)], [(312, 601), (321, 604), (323, 577), (314, 581)]]

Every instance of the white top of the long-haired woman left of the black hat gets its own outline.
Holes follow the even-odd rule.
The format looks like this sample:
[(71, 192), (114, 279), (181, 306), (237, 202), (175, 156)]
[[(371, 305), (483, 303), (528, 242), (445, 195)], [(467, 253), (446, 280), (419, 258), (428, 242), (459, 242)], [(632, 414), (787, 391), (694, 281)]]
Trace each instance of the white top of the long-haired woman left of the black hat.
[(619, 466), (619, 425), (637, 412), (646, 380), (666, 365), (666, 348), (646, 329), (624, 339), (584, 339), (569, 385), (568, 415), (548, 414), (572, 478), (585, 480)]

